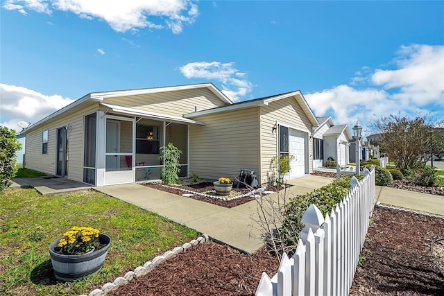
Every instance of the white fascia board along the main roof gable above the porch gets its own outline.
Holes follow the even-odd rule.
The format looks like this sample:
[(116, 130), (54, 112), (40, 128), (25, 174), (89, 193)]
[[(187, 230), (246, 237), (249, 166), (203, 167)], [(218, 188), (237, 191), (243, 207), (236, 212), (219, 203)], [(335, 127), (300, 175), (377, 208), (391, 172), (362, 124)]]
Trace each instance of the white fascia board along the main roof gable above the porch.
[(149, 89), (130, 89), (112, 92), (96, 92), (91, 94), (91, 98), (115, 98), (117, 96), (135, 96), (139, 94), (156, 94), (162, 92), (176, 92), (186, 89), (198, 89), (207, 87), (212, 93), (214, 93), (218, 98), (224, 103), (232, 104), (232, 101), (225, 96), (219, 89), (217, 89), (212, 83), (203, 83), (200, 85), (178, 85), (175, 87), (154, 87)]

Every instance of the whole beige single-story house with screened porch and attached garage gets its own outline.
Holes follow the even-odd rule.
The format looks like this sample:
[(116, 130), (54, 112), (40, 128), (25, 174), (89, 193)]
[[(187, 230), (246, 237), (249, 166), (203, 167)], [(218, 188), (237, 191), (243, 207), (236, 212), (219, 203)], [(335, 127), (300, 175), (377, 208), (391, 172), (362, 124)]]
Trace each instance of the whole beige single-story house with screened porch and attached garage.
[(212, 83), (87, 94), (31, 125), (26, 167), (95, 186), (160, 179), (160, 147), (182, 150), (180, 177), (218, 179), (242, 168), (289, 178), (312, 171), (316, 117), (300, 91), (232, 103)]

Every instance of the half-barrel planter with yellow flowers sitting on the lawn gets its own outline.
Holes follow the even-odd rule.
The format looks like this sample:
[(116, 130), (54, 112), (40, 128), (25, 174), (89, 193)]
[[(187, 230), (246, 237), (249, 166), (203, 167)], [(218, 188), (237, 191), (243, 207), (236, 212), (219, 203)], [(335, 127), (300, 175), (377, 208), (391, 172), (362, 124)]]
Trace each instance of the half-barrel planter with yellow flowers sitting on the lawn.
[(102, 268), (111, 238), (92, 227), (71, 227), (49, 245), (58, 281), (74, 281), (94, 275)]

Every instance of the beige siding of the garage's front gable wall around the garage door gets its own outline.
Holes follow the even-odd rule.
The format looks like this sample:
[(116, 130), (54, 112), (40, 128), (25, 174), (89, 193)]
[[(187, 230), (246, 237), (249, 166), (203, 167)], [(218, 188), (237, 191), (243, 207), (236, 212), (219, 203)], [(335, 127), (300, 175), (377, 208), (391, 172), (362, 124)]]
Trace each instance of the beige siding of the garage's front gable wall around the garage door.
[[(278, 131), (273, 132), (276, 122), (307, 130), (311, 134), (312, 125), (307, 115), (294, 97), (284, 98), (271, 102), (268, 106), (260, 107), (261, 114), (261, 182), (268, 182), (267, 177), (273, 177), (271, 171), (271, 160), (278, 154)], [(313, 171), (313, 142), (309, 137), (305, 139), (308, 143), (309, 172)]]

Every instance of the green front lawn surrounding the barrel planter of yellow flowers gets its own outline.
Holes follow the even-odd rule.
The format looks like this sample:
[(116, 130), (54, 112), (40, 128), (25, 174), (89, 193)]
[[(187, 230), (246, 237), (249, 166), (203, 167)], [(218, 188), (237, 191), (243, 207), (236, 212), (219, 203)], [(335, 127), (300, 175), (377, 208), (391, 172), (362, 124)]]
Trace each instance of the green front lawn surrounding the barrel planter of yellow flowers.
[[(112, 241), (99, 274), (61, 283), (53, 276), (48, 247), (73, 225), (98, 228)], [(95, 191), (44, 196), (6, 189), (0, 193), (0, 226), (0, 295), (89, 294), (198, 235)]]

